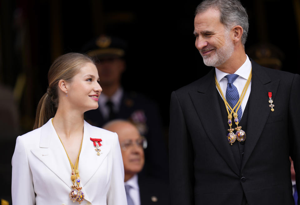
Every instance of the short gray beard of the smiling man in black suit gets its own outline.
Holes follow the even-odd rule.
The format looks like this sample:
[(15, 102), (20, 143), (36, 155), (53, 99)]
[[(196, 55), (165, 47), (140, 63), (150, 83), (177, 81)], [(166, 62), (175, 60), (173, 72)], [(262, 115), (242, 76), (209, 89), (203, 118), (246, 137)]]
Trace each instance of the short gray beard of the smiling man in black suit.
[[(215, 53), (213, 53), (213, 54), (210, 54), (207, 56), (202, 56), (203, 63), (206, 66), (217, 67), (217, 66), (225, 63), (231, 57), (233, 51), (234, 51), (234, 46), (233, 46), (233, 44), (229, 38), (229, 34), (228, 34), (225, 44), (221, 48), (215, 49)], [(200, 52), (200, 54), (201, 54), (201, 52)]]

